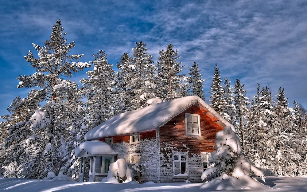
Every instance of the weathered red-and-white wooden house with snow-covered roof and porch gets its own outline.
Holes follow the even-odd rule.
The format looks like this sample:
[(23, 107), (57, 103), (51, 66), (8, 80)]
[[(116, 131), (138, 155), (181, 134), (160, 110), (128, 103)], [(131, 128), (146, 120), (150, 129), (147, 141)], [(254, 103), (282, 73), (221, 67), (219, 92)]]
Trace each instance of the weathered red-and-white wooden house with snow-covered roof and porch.
[[(85, 134), (84, 143), (95, 143), (86, 147), (82, 143), (76, 155), (91, 156), (90, 180), (106, 175), (108, 166), (123, 158), (127, 163), (143, 165), (144, 182), (201, 182), (208, 157), (215, 150), (216, 132), (227, 125), (235, 130), (197, 96), (148, 103), (145, 108), (116, 115)], [(99, 146), (106, 144), (108, 147), (99, 151)]]

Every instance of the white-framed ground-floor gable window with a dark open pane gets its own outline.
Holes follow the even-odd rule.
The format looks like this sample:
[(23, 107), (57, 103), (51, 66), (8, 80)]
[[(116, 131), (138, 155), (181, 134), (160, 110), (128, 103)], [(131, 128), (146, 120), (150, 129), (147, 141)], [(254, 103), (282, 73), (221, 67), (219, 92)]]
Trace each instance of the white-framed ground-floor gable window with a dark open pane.
[(173, 152), (173, 177), (188, 177), (187, 152)]

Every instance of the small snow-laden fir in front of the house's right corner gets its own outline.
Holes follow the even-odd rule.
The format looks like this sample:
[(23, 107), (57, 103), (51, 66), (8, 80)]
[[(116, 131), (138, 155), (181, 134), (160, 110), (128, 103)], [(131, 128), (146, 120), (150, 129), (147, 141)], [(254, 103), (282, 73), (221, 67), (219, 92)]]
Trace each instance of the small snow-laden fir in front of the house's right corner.
[[(213, 185), (227, 179), (228, 181), (223, 182), (224, 187), (220, 186), (217, 190), (227, 190), (242, 183), (248, 183), (248, 186), (261, 186), (262, 184), (251, 178), (250, 174), (255, 174), (265, 182), (262, 171), (257, 169), (248, 159), (245, 159), (239, 138), (230, 126), (217, 132), (216, 139), (216, 151), (208, 159), (209, 163), (214, 163), (214, 167), (208, 168), (201, 175), (202, 180), (213, 179), (206, 185)], [(240, 181), (237, 181), (238, 179)]]

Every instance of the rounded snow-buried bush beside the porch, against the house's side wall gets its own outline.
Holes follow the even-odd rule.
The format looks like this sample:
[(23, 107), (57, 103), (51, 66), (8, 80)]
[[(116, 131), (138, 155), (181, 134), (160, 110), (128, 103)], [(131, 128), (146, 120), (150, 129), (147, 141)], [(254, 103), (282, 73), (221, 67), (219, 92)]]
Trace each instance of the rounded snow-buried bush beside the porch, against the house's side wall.
[(108, 176), (103, 178), (101, 182), (122, 183), (133, 180), (133, 170), (128, 167), (125, 159), (117, 159), (111, 163)]

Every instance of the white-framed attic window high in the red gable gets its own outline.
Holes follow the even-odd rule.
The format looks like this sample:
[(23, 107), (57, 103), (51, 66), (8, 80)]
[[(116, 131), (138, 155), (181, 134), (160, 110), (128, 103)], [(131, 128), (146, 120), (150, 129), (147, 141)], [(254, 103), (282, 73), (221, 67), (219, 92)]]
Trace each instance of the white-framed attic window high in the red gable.
[(185, 133), (187, 136), (200, 137), (200, 115), (198, 114), (185, 114)]

